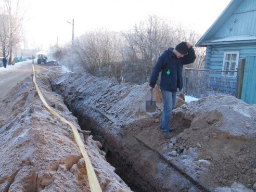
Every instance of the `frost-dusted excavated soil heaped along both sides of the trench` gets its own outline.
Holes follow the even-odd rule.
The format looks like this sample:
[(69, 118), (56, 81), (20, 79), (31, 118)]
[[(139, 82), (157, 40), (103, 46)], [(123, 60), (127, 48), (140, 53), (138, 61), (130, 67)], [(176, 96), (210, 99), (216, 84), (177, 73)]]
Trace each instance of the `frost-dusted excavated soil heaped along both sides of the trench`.
[[(49, 106), (92, 132), (80, 135), (103, 191), (256, 190), (255, 105), (228, 95), (190, 103), (178, 97), (166, 139), (158, 88), (157, 111), (147, 113), (147, 83), (47, 75), (36, 80)], [(0, 107), (0, 191), (90, 191), (70, 127), (42, 105), (31, 77)]]

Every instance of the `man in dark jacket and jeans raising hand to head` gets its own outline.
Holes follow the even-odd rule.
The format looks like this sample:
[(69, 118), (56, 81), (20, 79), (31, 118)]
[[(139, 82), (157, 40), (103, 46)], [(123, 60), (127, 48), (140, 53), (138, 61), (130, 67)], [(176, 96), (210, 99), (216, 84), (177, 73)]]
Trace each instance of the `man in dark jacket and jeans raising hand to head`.
[(171, 138), (169, 124), (172, 110), (175, 108), (177, 88), (182, 91), (183, 65), (193, 63), (196, 59), (195, 50), (190, 43), (182, 42), (175, 49), (170, 47), (158, 58), (153, 68), (149, 89), (155, 87), (159, 72), (161, 71), (160, 89), (163, 98), (163, 114), (161, 118), (161, 131), (166, 138)]

